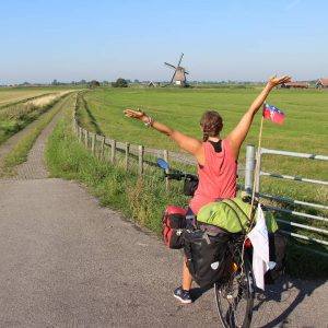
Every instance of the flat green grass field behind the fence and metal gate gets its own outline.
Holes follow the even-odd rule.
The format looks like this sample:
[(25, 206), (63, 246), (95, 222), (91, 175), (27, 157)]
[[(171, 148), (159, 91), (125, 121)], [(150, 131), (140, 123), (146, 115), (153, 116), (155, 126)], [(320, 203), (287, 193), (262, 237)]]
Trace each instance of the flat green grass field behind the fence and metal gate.
[[(224, 120), (224, 138), (247, 110), (260, 87), (248, 89), (99, 89), (84, 95), (87, 112), (81, 110), (81, 121), (92, 131), (133, 144), (178, 151), (167, 137), (147, 129), (140, 121), (122, 116), (125, 108), (142, 108), (154, 119), (189, 136), (201, 139), (199, 118), (207, 109), (215, 109)], [(261, 145), (268, 149), (328, 155), (328, 92), (317, 90), (273, 90), (268, 97), (286, 114), (283, 126), (263, 122)], [(95, 128), (96, 127), (96, 128)], [(239, 162), (245, 159), (247, 144), (258, 143), (260, 113), (256, 116), (244, 142)], [(328, 179), (328, 163), (269, 157), (265, 171), (306, 175)]]

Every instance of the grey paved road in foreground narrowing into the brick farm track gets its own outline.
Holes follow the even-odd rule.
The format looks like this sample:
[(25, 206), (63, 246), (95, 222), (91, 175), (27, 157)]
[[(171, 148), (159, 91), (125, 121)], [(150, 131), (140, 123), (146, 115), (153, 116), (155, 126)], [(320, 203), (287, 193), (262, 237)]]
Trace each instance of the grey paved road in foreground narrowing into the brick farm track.
[[(220, 327), (211, 290), (195, 288), (192, 305), (173, 298), (179, 251), (79, 184), (46, 177), (59, 118), (19, 178), (0, 180), (0, 327)], [(281, 280), (258, 295), (253, 327), (327, 328), (327, 282)]]

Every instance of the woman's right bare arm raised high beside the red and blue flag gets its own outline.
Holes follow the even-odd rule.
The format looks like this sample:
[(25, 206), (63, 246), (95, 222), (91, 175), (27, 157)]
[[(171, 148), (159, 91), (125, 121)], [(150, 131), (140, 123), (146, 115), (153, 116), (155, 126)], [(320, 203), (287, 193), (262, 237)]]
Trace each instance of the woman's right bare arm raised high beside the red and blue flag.
[(249, 106), (246, 114), (242, 117), (241, 121), (230, 132), (230, 134), (227, 136), (227, 139), (231, 142), (231, 147), (232, 147), (232, 151), (233, 151), (233, 155), (234, 155), (235, 160), (238, 159), (241, 147), (248, 133), (248, 130), (251, 126), (255, 114), (261, 107), (261, 105), (266, 101), (267, 96), (269, 95), (270, 91), (274, 86), (290, 81), (290, 79), (291, 79), (290, 75), (283, 75), (280, 78), (277, 78), (276, 75), (271, 77), (269, 79), (267, 85), (265, 86), (265, 89), (260, 92), (260, 94), (256, 97), (256, 99)]

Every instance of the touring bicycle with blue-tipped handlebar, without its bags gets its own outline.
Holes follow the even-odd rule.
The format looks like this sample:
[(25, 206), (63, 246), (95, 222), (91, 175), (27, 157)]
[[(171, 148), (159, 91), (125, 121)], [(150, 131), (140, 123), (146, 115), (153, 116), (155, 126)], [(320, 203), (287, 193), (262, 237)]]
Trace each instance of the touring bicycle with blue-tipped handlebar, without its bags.
[[(157, 164), (167, 179), (184, 179), (185, 184), (192, 181), (196, 190), (196, 175), (180, 171), (167, 173), (168, 164), (165, 161), (157, 160)], [(192, 195), (194, 192), (188, 194)], [(245, 238), (245, 232), (230, 234), (225, 259), (224, 273), (213, 285), (218, 314), (225, 328), (248, 328), (253, 316), (255, 281), (250, 260), (251, 244)]]

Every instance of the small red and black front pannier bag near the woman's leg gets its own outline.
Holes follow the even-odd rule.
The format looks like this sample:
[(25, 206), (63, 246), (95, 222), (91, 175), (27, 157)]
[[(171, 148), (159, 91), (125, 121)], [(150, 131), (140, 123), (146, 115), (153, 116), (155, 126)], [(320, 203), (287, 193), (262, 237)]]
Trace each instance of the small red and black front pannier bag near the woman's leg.
[(176, 206), (168, 206), (163, 216), (163, 236), (164, 243), (169, 248), (183, 248), (184, 233), (186, 229), (186, 213), (187, 211)]

